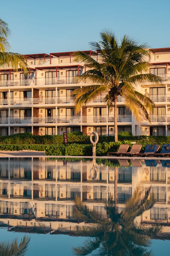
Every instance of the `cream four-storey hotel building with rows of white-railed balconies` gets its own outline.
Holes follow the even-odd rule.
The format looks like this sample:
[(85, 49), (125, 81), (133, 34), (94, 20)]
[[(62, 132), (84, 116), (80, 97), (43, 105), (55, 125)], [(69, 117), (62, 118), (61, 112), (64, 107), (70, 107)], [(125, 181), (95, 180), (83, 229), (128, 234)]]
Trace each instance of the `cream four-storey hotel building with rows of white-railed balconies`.
[[(141, 120), (125, 108), (124, 98), (117, 103), (118, 132), (133, 135), (170, 136), (170, 48), (148, 49), (148, 72), (162, 77), (162, 84), (141, 84), (137, 90), (155, 103), (151, 123)], [(98, 60), (98, 54), (85, 51)], [(82, 131), (89, 135), (114, 135), (114, 109), (107, 108), (104, 94), (74, 114), (72, 91), (86, 85), (77, 83), (76, 76), (87, 70), (74, 61), (73, 52), (29, 54), (28, 74), (18, 69), (0, 69), (0, 135), (32, 132), (34, 135), (63, 134)]]

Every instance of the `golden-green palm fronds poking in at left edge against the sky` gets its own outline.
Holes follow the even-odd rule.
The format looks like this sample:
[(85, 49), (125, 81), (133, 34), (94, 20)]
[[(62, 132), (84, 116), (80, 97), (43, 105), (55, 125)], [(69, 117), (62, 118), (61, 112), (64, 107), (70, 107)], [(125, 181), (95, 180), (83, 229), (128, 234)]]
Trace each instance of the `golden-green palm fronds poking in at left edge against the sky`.
[(25, 57), (18, 53), (10, 52), (9, 35), (8, 24), (0, 19), (0, 67), (1, 69), (14, 69), (17, 71), (19, 66), (26, 73), (28, 72), (28, 66)]

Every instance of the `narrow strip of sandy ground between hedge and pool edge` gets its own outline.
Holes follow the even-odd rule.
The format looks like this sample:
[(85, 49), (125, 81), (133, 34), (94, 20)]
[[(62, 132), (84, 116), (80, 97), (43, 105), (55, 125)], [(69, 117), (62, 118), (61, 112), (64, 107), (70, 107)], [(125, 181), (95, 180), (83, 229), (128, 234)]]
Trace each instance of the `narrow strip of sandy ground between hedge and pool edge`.
[(21, 151), (1, 151), (1, 156), (45, 156), (44, 151), (21, 150)]

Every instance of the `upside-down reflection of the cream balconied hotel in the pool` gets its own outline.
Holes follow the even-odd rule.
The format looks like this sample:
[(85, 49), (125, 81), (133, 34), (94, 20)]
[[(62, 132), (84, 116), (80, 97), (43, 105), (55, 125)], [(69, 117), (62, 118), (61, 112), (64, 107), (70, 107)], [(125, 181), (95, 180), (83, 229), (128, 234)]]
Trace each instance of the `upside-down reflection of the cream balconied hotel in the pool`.
[(155, 199), (154, 207), (143, 213), (141, 220), (167, 224), (170, 168), (164, 166), (169, 166), (169, 162), (137, 161), (120, 166), (121, 161), (96, 159), (98, 173), (93, 173), (92, 159), (0, 158), (0, 218), (3, 222), (11, 218), (10, 223), (20, 219), (21, 226), (23, 219), (28, 223), (35, 223), (34, 219), (43, 223), (67, 221), (69, 229), (68, 222), (74, 220), (75, 196), (106, 218), (105, 203), (110, 196), (114, 199), (114, 166), (119, 164), (118, 211), (124, 208), (140, 181), (144, 188), (151, 187)]

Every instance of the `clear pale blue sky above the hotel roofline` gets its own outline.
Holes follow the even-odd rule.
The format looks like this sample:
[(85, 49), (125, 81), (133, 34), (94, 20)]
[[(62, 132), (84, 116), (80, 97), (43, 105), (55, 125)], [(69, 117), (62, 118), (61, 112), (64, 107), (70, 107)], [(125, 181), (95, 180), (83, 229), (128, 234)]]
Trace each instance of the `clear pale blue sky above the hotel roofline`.
[(147, 42), (170, 47), (169, 0), (6, 0), (0, 18), (11, 29), (13, 52), (21, 54), (90, 49), (99, 33), (112, 29)]

